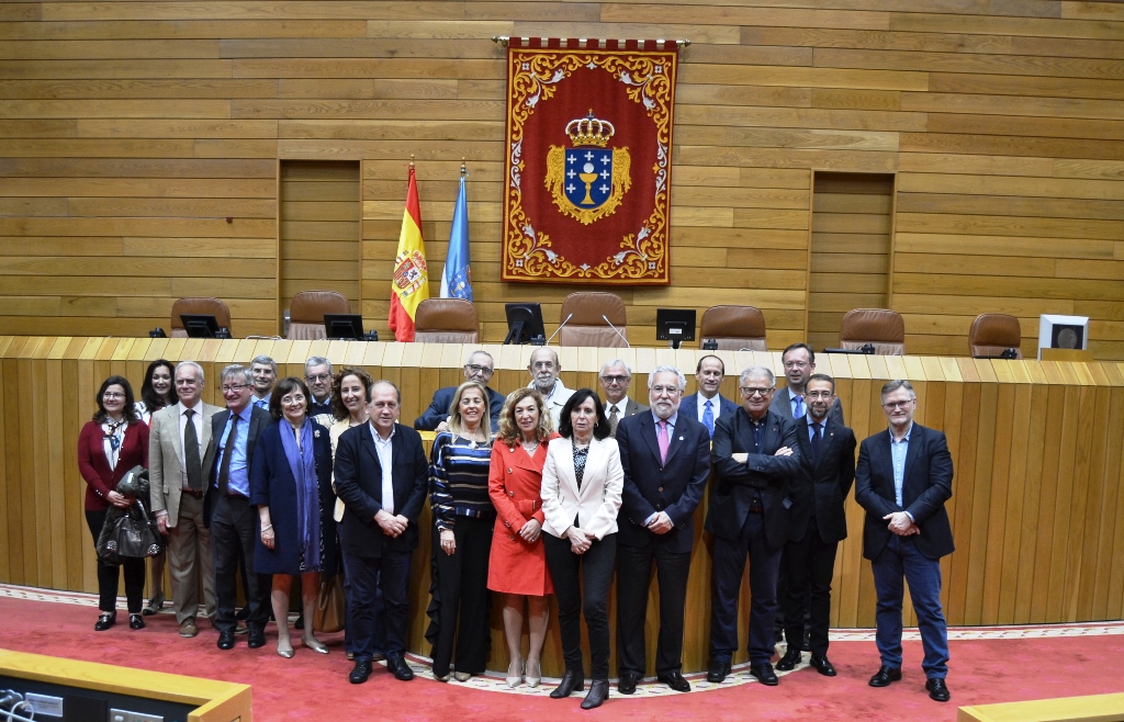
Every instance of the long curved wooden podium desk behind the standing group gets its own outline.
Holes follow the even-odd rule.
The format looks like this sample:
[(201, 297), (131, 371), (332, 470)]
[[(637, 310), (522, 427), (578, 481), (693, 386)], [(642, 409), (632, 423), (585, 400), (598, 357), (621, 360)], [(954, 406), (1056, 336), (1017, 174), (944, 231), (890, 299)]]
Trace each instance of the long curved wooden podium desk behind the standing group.
[[(510, 392), (529, 381), (531, 347), (483, 345), (496, 358), (491, 386)], [(110, 374), (139, 391), (152, 359), (192, 359), (206, 371), (203, 397), (221, 404), (224, 366), (272, 356), (279, 373), (303, 375), (309, 356), (338, 368), (361, 365), (402, 392), (401, 421), (413, 420), (441, 386), (463, 381), (472, 346), (362, 341), (203, 340), (0, 337), (0, 581), (94, 592), (93, 545), (82, 515), (83, 482), (74, 454), (78, 432), (96, 410)], [(602, 363), (633, 368), (631, 394), (646, 397), (646, 374), (672, 364), (687, 375), (706, 351), (669, 348), (561, 348), (563, 383), (597, 385)], [(727, 376), (722, 393), (737, 400), (737, 371), (761, 365), (783, 383), (778, 351), (718, 351)], [(908, 378), (919, 423), (944, 431), (955, 466), (948, 503), (957, 551), (942, 561), (943, 602), (953, 625), (1078, 622), (1124, 618), (1124, 363), (967, 357), (826, 355), (816, 371), (836, 378), (847, 426), (861, 440), (886, 428), (879, 389)], [(695, 558), (687, 602), (685, 671), (706, 665), (710, 546), (703, 534), (706, 502), (696, 514)], [(428, 512), (420, 523), (429, 523)], [(874, 587), (862, 559), (862, 511), (847, 502), (849, 537), (840, 545), (832, 625), (871, 628)], [(427, 527), (428, 528), (428, 527)], [(429, 654), (427, 623), (430, 534), (422, 534), (411, 581), (410, 649)], [(652, 604), (656, 592), (653, 584)], [(743, 588), (747, 604), (747, 584)], [(907, 604), (906, 624), (914, 623)], [(493, 604), (491, 669), (506, 669), (506, 645)], [(650, 657), (654, 655), (650, 610)], [(610, 610), (610, 619), (615, 611)], [(740, 613), (744, 625), (747, 612)], [(558, 616), (552, 612), (543, 671), (561, 673)], [(745, 630), (742, 630), (743, 638)], [(744, 646), (743, 646), (744, 650)], [(740, 661), (744, 658), (735, 658)], [(611, 664), (615, 665), (615, 661)], [(651, 666), (651, 660), (650, 660)], [(614, 667), (615, 669), (615, 667)], [(652, 670), (649, 669), (649, 673)]]

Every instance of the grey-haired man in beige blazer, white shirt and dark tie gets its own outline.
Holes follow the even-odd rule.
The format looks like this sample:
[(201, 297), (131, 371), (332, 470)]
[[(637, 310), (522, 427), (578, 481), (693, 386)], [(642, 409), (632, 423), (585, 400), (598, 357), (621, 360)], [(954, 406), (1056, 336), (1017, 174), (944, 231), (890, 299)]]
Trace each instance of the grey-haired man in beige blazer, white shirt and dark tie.
[(199, 633), (199, 579), (202, 577), (207, 616), (215, 621), (215, 566), (210, 530), (203, 523), (207, 472), (214, 459), (210, 419), (221, 411), (200, 400), (202, 366), (180, 362), (175, 393), (180, 401), (152, 414), (148, 432), (148, 479), (152, 510), (166, 533), (172, 602), (180, 637)]

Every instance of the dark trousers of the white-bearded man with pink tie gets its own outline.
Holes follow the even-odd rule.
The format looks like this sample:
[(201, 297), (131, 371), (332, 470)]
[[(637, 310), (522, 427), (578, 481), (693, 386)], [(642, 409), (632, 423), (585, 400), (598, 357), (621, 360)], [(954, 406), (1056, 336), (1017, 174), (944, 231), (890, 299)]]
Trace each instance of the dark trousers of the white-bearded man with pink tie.
[(667, 545), (654, 542), (646, 547), (617, 545), (617, 671), (620, 675), (644, 675), (644, 624), (653, 559), (660, 583), (655, 674), (679, 671), (683, 658), (683, 607), (687, 604), (691, 552), (673, 554), (667, 551)]

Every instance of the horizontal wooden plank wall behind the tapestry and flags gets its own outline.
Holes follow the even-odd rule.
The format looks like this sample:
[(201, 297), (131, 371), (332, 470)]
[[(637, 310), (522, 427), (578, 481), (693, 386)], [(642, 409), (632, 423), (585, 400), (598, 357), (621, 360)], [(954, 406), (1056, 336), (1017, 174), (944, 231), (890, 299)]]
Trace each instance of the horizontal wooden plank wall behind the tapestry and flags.
[[(278, 327), (278, 159), (361, 161), (362, 312), (386, 333), (405, 164), (441, 272), (468, 159), (484, 337), (498, 277), (504, 49), (492, 35), (680, 37), (672, 282), (808, 336), (812, 171), (896, 173), (889, 303), (915, 353), (972, 318), (1091, 317), (1124, 358), (1124, 9), (1071, 0), (12, 2), (0, 6), (0, 332), (137, 335), (181, 295)], [(232, 221), (227, 222), (227, 218)], [(218, 263), (215, 263), (218, 262)], [(230, 281), (238, 280), (237, 295)]]

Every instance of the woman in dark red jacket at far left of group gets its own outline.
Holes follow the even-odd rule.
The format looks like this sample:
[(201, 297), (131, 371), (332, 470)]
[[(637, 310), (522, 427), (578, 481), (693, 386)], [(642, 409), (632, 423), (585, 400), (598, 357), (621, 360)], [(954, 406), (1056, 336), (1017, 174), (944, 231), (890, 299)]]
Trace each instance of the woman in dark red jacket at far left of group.
[[(128, 509), (135, 501), (117, 493), (117, 482), (135, 466), (148, 466), (148, 427), (133, 408), (133, 387), (121, 376), (110, 376), (98, 390), (98, 412), (78, 437), (78, 468), (85, 479), (85, 523), (97, 546), (110, 504)], [(126, 558), (121, 564), (98, 560), (98, 609), (93, 625), (102, 632), (117, 622), (118, 569), (125, 567), (125, 596), (129, 629), (144, 629), (140, 602), (144, 595), (144, 559)]]

